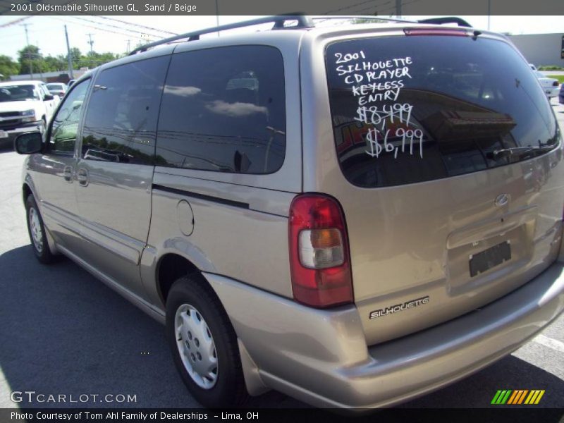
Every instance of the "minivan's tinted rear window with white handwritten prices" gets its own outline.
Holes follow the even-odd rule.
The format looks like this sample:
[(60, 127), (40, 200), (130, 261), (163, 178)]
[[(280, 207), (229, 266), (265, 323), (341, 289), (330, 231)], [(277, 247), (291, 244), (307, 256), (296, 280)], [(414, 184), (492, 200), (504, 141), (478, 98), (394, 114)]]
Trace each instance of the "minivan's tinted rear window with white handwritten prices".
[(560, 139), (531, 69), (497, 39), (333, 42), (326, 69), (338, 160), (360, 187), (503, 166), (544, 154)]

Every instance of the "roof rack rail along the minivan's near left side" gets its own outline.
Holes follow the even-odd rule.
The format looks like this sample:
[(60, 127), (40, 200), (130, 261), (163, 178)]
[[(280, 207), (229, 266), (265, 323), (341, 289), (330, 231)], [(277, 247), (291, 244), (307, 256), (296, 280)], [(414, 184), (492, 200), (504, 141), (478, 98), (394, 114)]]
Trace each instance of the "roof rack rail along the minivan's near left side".
[(243, 22), (228, 23), (226, 25), (209, 27), (203, 30), (186, 32), (185, 34), (179, 34), (179, 35), (174, 35), (173, 37), (159, 39), (159, 41), (149, 42), (148, 44), (144, 44), (140, 47), (137, 47), (137, 49), (132, 50), (129, 55), (131, 56), (133, 54), (137, 54), (142, 51), (147, 51), (147, 49), (150, 49), (151, 47), (157, 47), (161, 44), (168, 44), (169, 42), (177, 41), (178, 39), (188, 38), (188, 41), (194, 41), (196, 39), (200, 39), (200, 35), (210, 34), (212, 32), (219, 32), (225, 30), (233, 30), (235, 28), (247, 27), (252, 25), (259, 25), (261, 23), (274, 23), (274, 29), (282, 29), (284, 27), (284, 23), (287, 22), (288, 20), (298, 21), (298, 25), (295, 25), (292, 28), (309, 28), (314, 26), (309, 16), (300, 15), (299, 13), (293, 15), (267, 16), (266, 18), (257, 18), (252, 20), (245, 20)]

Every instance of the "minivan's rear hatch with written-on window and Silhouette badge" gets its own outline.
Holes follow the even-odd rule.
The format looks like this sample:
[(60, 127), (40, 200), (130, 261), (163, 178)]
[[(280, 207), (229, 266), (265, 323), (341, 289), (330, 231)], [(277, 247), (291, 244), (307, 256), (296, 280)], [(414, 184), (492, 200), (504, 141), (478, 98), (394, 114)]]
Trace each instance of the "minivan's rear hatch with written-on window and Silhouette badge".
[(476, 34), (420, 28), (326, 47), (348, 183), (324, 190), (345, 212), (369, 345), (479, 309), (558, 253), (555, 116), (515, 48)]

